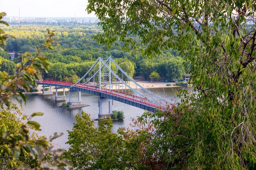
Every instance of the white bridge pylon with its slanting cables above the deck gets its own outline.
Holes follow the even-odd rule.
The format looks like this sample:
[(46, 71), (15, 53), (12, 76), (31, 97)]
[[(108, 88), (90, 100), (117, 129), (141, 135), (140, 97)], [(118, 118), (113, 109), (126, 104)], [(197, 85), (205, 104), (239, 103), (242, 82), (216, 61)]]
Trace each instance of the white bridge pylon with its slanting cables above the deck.
[(162, 109), (166, 109), (170, 103), (139, 85), (111, 57), (99, 58), (87, 73), (70, 88), (77, 84), (93, 86), (99, 91), (110, 91), (137, 97), (141, 101), (161, 106)]

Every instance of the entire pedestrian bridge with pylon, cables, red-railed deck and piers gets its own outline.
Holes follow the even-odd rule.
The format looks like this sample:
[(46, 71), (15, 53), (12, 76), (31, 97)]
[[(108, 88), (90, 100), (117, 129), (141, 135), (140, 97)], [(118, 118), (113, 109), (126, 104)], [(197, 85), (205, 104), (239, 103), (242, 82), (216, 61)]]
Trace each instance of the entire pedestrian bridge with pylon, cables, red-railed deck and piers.
[[(112, 70), (111, 67), (114, 67), (115, 70)], [(111, 57), (99, 58), (92, 68), (76, 83), (53, 80), (43, 80), (37, 83), (43, 85), (43, 94), (47, 93), (45, 92), (45, 87), (55, 87), (56, 100), (65, 100), (64, 89), (69, 88), (70, 99), (68, 104), (70, 105), (81, 104), (81, 92), (98, 95), (99, 117), (103, 114), (102, 106), (104, 101), (108, 102), (109, 114), (112, 113), (111, 99), (151, 112), (156, 112), (157, 109), (166, 110), (168, 104), (170, 104), (166, 99), (140, 86)], [(63, 96), (58, 96), (58, 88), (63, 88)], [(74, 92), (79, 93), (77, 101), (72, 100), (72, 93)]]

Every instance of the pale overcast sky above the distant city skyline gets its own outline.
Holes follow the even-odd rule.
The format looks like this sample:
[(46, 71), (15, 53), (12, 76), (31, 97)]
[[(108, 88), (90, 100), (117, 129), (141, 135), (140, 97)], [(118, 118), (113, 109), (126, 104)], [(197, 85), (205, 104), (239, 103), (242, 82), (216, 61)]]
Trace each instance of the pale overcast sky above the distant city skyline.
[(7, 17), (94, 17), (85, 11), (87, 0), (0, 0)]

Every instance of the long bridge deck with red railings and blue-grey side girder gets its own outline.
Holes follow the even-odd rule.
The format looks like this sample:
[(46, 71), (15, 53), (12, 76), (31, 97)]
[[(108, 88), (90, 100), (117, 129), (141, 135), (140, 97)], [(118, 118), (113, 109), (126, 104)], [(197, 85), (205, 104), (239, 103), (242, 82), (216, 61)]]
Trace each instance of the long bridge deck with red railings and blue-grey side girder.
[(129, 93), (124, 93), (121, 91), (116, 91), (116, 90), (111, 90), (107, 88), (101, 88), (99, 90), (98, 87), (91, 86), (88, 84), (82, 85), (82, 84), (76, 84), (75, 86), (71, 87), (74, 85), (74, 83), (69, 83), (69, 82), (59, 82), (59, 81), (52, 81), (52, 80), (43, 80), (43, 81), (38, 81), (38, 84), (44, 85), (44, 86), (56, 86), (56, 87), (63, 87), (63, 88), (70, 88), (70, 90), (73, 91), (80, 91), (84, 93), (89, 93), (92, 95), (98, 95), (101, 97), (106, 97), (109, 99), (116, 100), (118, 102), (122, 102), (125, 104), (129, 104), (138, 108), (142, 108), (144, 110), (156, 112), (157, 108), (162, 109), (162, 106), (158, 106), (157, 104), (153, 104), (149, 102), (146, 98), (142, 98), (136, 95), (132, 95)]

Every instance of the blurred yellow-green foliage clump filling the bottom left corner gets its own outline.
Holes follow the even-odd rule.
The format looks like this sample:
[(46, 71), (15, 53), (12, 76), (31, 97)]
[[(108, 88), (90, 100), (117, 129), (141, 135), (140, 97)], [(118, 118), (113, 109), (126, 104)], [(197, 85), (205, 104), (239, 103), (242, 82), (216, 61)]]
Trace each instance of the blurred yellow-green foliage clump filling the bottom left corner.
[(36, 133), (31, 134), (32, 130), (40, 130), (40, 124), (31, 119), (42, 115), (43, 113), (33, 113), (28, 117), (16, 105), (0, 110), (1, 170), (65, 170), (63, 167), (69, 165), (63, 159), (64, 150), (54, 150), (49, 145), (49, 141), (59, 135), (54, 134), (48, 141)]

